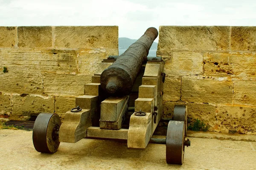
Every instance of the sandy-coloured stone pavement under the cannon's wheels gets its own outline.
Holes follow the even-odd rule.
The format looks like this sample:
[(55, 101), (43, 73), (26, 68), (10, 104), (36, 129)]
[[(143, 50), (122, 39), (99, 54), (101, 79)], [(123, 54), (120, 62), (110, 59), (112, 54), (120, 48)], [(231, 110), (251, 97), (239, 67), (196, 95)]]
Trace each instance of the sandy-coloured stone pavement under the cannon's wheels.
[[(189, 136), (195, 137), (189, 137), (191, 147), (186, 147), (180, 166), (166, 164), (163, 144), (136, 150), (128, 149), (126, 143), (83, 139), (76, 144), (61, 143), (56, 153), (46, 154), (34, 149), (32, 131), (0, 129), (0, 170), (256, 169), (256, 136), (191, 132)], [(246, 141), (241, 141), (242, 137)]]

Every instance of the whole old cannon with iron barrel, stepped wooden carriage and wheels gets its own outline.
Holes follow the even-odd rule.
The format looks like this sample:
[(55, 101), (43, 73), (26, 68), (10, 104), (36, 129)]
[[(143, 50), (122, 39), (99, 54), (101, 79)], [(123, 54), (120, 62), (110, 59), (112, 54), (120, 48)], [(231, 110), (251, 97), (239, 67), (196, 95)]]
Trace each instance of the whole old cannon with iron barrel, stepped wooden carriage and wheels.
[[(35, 120), (33, 144), (41, 153), (55, 153), (60, 142), (81, 139), (122, 140), (128, 148), (144, 149), (148, 143), (166, 144), (166, 162), (183, 164), (186, 139), (186, 105), (175, 105), (172, 119), (162, 118), (163, 73), (161, 57), (147, 57), (158, 35), (148, 28), (122, 55), (99, 63), (76, 107), (65, 113), (40, 113)], [(168, 122), (166, 137), (152, 138), (160, 121)]]

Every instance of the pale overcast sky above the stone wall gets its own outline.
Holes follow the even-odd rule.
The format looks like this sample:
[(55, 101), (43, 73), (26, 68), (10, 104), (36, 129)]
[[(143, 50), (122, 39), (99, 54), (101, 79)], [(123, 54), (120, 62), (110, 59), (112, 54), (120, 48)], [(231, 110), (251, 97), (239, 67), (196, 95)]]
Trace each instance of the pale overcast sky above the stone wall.
[(256, 26), (256, 0), (0, 0), (0, 26)]

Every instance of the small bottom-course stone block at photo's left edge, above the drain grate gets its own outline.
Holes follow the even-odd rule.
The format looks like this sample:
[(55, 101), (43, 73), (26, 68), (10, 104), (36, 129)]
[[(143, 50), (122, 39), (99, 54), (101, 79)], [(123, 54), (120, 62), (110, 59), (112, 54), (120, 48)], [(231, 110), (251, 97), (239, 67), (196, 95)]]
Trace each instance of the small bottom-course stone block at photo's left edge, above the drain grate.
[(6, 114), (9, 116), (11, 111), (12, 111), (11, 96), (3, 95), (0, 92), (0, 115)]

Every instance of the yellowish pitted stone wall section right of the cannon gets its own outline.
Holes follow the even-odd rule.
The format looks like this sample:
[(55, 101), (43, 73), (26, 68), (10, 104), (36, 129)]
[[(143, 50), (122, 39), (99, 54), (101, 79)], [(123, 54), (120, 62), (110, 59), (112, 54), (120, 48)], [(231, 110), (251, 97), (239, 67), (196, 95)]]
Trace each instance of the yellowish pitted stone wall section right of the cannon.
[(187, 104), (210, 130), (256, 134), (256, 27), (160, 26), (164, 115)]

